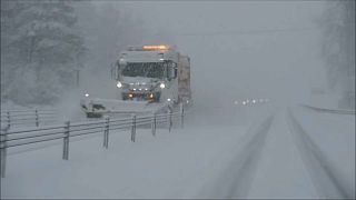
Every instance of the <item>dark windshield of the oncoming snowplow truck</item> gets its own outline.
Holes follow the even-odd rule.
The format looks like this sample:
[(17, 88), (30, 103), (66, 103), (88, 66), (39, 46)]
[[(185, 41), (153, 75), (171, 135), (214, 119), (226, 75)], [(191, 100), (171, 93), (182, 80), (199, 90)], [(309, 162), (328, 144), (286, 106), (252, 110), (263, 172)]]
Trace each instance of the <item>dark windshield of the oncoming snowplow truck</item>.
[(125, 77), (162, 78), (165, 64), (162, 62), (129, 62), (122, 70)]

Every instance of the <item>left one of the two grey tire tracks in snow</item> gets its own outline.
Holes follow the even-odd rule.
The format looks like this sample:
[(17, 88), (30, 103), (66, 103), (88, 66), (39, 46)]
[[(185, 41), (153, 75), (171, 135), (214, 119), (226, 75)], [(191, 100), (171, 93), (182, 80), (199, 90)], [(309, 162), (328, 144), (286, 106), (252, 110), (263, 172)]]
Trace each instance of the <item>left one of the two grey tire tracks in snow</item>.
[(247, 197), (274, 117), (275, 114), (269, 116), (258, 127), (254, 124), (250, 127), (233, 161), (212, 186), (206, 188), (209, 190), (208, 198), (245, 199)]

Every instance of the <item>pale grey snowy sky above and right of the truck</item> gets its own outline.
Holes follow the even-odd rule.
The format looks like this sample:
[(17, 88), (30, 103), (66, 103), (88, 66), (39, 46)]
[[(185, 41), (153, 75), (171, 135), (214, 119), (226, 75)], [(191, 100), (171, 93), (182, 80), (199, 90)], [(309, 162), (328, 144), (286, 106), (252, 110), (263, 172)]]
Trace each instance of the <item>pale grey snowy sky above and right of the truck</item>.
[(147, 43), (174, 43), (190, 56), (196, 102), (299, 100), (323, 84), (323, 1), (120, 3), (145, 21)]

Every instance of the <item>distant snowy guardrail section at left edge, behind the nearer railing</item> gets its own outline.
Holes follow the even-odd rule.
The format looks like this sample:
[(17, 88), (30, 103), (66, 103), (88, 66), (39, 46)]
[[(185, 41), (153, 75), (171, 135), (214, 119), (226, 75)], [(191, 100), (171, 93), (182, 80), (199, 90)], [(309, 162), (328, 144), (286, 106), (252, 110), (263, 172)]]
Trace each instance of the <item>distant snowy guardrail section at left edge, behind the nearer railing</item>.
[(56, 110), (7, 110), (1, 111), (1, 127), (46, 124), (57, 120)]

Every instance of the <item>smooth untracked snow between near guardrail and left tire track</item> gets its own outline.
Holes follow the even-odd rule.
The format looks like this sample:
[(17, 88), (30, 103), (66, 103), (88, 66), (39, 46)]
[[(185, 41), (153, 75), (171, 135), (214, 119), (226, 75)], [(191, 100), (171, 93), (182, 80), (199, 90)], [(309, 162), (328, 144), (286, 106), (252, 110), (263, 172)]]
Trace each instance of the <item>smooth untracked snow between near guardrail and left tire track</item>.
[[(235, 130), (231, 132), (231, 130)], [(218, 137), (217, 137), (218, 132)], [(159, 130), (154, 138), (138, 130), (70, 144), (70, 160), (61, 146), (10, 156), (3, 198), (191, 198), (207, 180), (224, 170), (244, 129)], [(221, 148), (224, 147), (224, 148)]]

